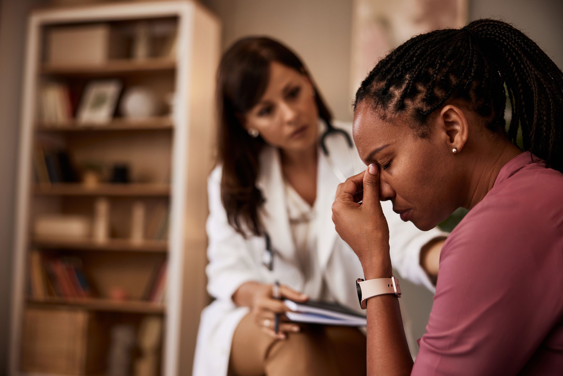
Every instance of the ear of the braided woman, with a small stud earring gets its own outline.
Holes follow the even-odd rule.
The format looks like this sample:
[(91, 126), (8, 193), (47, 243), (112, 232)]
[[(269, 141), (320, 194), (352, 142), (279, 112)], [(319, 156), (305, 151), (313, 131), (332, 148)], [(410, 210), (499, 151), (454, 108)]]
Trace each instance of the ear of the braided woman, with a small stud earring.
[(449, 150), (455, 148), (461, 152), (469, 135), (469, 126), (463, 110), (448, 104), (440, 111), (436, 121), (444, 134), (444, 141)]

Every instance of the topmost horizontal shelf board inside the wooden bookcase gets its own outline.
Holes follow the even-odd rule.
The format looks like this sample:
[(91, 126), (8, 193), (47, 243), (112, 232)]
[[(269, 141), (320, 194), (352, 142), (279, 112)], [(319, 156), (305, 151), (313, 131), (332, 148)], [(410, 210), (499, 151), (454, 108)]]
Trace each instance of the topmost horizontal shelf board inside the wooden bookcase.
[(176, 61), (168, 58), (145, 60), (110, 60), (104, 65), (44, 65), (42, 74), (55, 76), (104, 76), (107, 74), (135, 74), (173, 72)]

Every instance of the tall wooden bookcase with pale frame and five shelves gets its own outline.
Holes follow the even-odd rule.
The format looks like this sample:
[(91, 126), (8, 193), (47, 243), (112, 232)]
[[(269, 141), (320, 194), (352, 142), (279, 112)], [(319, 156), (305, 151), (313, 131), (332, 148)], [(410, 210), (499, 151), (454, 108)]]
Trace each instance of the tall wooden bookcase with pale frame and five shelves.
[[(79, 61), (80, 57), (69, 48), (62, 54), (52, 55), (50, 46), (56, 45), (50, 39), (53, 32), (60, 32), (62, 28), (68, 31), (97, 27), (129, 43), (135, 35), (128, 30), (136, 30), (140, 22), (162, 23), (165, 27), (160, 28), (159, 33), (172, 30), (168, 32), (174, 37), (170, 40), (174, 40), (177, 47), (160, 53), (166, 57), (122, 59), (122, 56), (133, 56), (132, 48), (114, 51), (110, 43), (106, 43), (108, 37), (101, 36), (95, 41), (107, 54), (99, 52), (97, 56), (102, 57), (95, 60), (105, 59), (106, 63), (49, 63)], [(189, 376), (200, 313), (208, 304), (205, 219), (208, 214), (207, 176), (213, 165), (216, 123), (214, 91), (220, 59), (218, 20), (198, 1), (149, 0), (44, 8), (32, 12), (28, 25), (8, 374), (29, 374), (30, 370), (34, 374), (52, 376), (68, 374), (49, 369), (38, 361), (40, 357), (22, 349), (37, 348), (35, 344), (52, 351), (59, 348), (59, 343), (57, 346), (52, 343), (56, 338), (25, 335), (25, 323), (29, 322), (25, 321), (26, 317), (42, 324), (42, 328), (52, 329), (47, 316), (65, 317), (69, 313), (68, 316), (82, 320), (82, 324), (76, 326), (82, 328), (82, 335), (74, 338), (76, 336), (70, 333), (65, 338), (74, 338), (84, 352), (75, 357), (72, 352), (61, 356), (65, 364), (83, 364), (84, 359), (93, 359), (99, 367), (92, 373), (104, 374), (111, 328), (121, 324), (137, 327), (146, 319), (144, 316), (159, 315), (164, 323), (162, 353), (158, 364), (160, 372), (157, 370), (154, 374)], [(82, 32), (76, 32), (75, 37), (79, 35), (83, 35)], [(155, 33), (153, 42), (159, 44), (159, 38), (162, 35)], [(84, 56), (92, 56), (88, 54), (96, 50), (96, 43), (83, 45), (88, 47)], [(66, 44), (59, 43), (61, 46)], [(154, 51), (149, 56), (157, 56)], [(72, 59), (64, 60), (66, 54)], [(62, 58), (51, 59), (52, 56)], [(79, 124), (75, 120), (56, 123), (76, 116), (84, 88), (93, 81), (106, 79), (119, 80), (122, 87), (119, 98), (136, 86), (148, 89), (159, 104), (156, 116), (119, 117), (118, 103), (113, 112), (118, 117), (106, 125)], [(45, 91), (48, 85), (59, 85), (64, 90), (52, 95), (53, 91), (50, 94)], [(54, 100), (55, 104), (46, 98)], [(170, 105), (170, 98), (174, 98), (177, 105)], [(61, 107), (57, 101), (65, 105)], [(55, 112), (50, 111), (53, 108)], [(53, 113), (56, 116), (46, 116)], [(55, 123), (43, 122), (47, 120)], [(131, 184), (107, 183), (116, 166), (125, 166), (123, 170), (127, 170)], [(84, 172), (88, 170), (96, 171), (103, 183), (93, 187), (82, 183), (38, 183), (72, 181), (86, 176)], [(75, 174), (67, 174), (69, 171)], [(104, 200), (98, 200), (100, 197)], [(100, 243), (90, 239), (35, 236), (35, 224), (49, 216), (63, 219), (79, 216), (92, 223), (102, 223), (102, 231), (110, 238)], [(167, 240), (130, 241), (132, 233), (140, 233), (133, 229), (139, 228), (145, 229), (144, 235), (150, 233), (150, 236)], [(65, 287), (61, 289), (62, 286)], [(62, 297), (83, 296), (82, 292), (88, 290), (100, 298)], [(115, 294), (129, 300), (106, 298)], [(154, 300), (163, 303), (142, 300), (152, 294), (155, 294)], [(41, 298), (48, 295), (59, 296)], [(103, 325), (89, 326), (97, 321)], [(56, 323), (62, 329), (72, 329), (64, 320)], [(107, 341), (99, 342), (96, 333)], [(97, 345), (90, 348), (91, 342)]]

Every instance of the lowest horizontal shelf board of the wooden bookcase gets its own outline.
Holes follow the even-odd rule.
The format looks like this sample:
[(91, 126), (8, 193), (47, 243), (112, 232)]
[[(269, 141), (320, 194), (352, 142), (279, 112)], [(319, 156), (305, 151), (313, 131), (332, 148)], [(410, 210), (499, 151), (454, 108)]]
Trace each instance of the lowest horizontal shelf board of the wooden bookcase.
[(90, 311), (158, 313), (164, 314), (166, 307), (160, 303), (144, 302), (142, 300), (110, 300), (101, 298), (71, 299), (71, 298), (28, 298), (28, 304), (33, 306), (72, 306)]

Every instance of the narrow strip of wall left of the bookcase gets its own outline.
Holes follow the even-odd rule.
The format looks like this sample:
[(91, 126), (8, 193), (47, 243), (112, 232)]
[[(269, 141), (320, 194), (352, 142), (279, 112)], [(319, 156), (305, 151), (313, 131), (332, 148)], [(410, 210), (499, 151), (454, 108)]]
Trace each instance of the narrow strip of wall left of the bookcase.
[(0, 2), (0, 374), (7, 369), (19, 108), (31, 7), (42, 0)]

